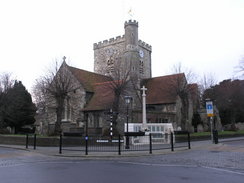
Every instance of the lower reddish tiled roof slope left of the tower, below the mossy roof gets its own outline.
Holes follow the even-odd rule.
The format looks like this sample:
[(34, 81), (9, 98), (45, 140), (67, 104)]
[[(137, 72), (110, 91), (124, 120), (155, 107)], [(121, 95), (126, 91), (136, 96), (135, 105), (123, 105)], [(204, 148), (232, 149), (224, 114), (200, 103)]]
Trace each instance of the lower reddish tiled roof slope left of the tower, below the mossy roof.
[(83, 111), (110, 109), (114, 101), (113, 81), (94, 84), (94, 95)]

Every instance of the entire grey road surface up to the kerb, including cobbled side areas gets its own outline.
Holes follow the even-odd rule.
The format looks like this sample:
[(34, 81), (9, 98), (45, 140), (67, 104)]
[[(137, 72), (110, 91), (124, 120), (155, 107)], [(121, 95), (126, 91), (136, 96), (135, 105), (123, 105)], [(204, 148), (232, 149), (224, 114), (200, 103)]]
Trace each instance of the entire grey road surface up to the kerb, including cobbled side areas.
[(92, 160), (0, 147), (0, 182), (243, 183), (244, 153), (238, 149), (243, 145), (244, 141), (233, 141), (214, 149)]

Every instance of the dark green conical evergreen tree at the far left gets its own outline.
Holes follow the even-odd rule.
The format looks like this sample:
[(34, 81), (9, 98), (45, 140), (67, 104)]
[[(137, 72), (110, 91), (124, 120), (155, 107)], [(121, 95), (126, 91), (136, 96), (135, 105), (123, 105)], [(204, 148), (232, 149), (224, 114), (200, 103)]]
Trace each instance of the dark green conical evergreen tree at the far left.
[(14, 86), (6, 92), (3, 104), (3, 119), (7, 126), (14, 127), (15, 133), (24, 125), (35, 122), (36, 106), (30, 93), (21, 81), (15, 81)]

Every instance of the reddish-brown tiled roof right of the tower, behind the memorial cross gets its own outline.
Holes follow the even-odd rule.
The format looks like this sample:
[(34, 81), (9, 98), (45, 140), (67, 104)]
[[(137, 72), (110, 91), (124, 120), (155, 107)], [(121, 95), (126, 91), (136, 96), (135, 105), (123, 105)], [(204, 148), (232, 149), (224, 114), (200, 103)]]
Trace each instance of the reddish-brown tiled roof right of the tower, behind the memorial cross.
[(176, 88), (185, 81), (184, 73), (145, 79), (142, 85), (147, 88), (147, 104), (175, 103), (177, 99)]

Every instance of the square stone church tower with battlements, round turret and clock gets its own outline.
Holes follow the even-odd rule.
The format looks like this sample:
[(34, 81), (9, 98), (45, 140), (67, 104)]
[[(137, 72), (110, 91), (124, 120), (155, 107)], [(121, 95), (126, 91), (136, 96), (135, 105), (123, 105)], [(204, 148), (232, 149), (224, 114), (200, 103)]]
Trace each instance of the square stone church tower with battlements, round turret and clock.
[(124, 30), (123, 36), (94, 44), (94, 72), (113, 76), (118, 68), (121, 72), (129, 69), (139, 80), (151, 78), (152, 48), (138, 40), (138, 22), (125, 22)]

